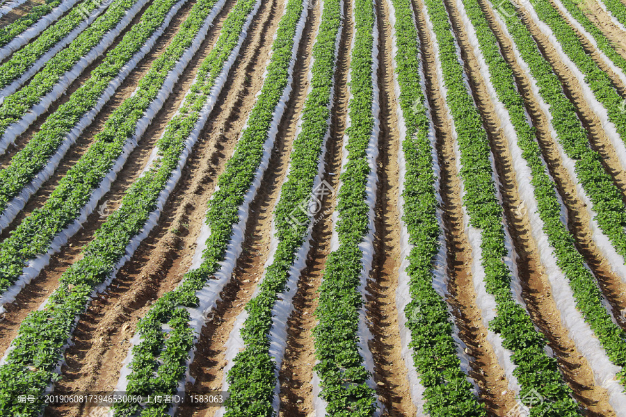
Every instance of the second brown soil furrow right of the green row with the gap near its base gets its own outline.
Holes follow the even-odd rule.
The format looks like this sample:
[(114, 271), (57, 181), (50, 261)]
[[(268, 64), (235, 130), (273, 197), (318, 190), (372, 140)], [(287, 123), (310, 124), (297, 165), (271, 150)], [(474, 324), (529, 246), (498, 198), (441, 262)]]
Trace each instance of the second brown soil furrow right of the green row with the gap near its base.
[[(350, 69), (350, 44), (354, 22), (351, 19), (351, 1), (344, 1), (344, 21), (339, 40), (337, 67), (335, 68), (334, 104), (330, 113), (330, 137), (326, 143), (326, 160), (323, 180), (333, 189), (339, 187), (339, 170), (342, 163), (342, 143), (348, 115), (348, 72)], [(280, 417), (308, 417), (313, 411), (312, 378), (315, 363), (313, 328), (317, 322), (317, 291), (323, 277), (326, 257), (330, 254), (332, 212), (337, 204), (336, 194), (322, 200), (313, 226), (311, 250), (306, 267), (300, 274), (298, 289), (292, 300), (294, 311), (287, 320), (287, 347), (278, 377), (280, 384)]]

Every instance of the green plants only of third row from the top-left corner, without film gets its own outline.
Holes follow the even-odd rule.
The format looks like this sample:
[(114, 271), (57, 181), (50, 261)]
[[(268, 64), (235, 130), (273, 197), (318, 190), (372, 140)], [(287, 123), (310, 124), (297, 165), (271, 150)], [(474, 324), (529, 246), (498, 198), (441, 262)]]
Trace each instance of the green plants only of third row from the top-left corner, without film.
[[(50, 58), (40, 70), (22, 88), (5, 97), (0, 105), (0, 138), (6, 134), (10, 124), (19, 121), (35, 104), (52, 91), (67, 71), (71, 70), (83, 56), (95, 48), (115, 26), (127, 16), (127, 12), (145, 0), (114, 0), (111, 6), (77, 36), (67, 47)], [(135, 10), (139, 10), (135, 7)], [(150, 13), (149, 13), (150, 12)], [(157, 24), (159, 12), (151, 7), (144, 14), (144, 25)], [(149, 19), (147, 17), (150, 17)], [(159, 27), (157, 25), (156, 27)]]

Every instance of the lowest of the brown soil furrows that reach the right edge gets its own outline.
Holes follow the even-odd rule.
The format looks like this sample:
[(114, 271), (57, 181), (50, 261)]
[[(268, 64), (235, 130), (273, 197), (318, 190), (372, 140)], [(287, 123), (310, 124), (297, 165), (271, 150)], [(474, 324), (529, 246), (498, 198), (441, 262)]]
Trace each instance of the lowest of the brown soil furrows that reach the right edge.
[[(547, 115), (540, 108), (538, 99), (531, 90), (531, 83), (527, 75), (520, 67), (520, 64), (517, 63), (515, 54), (513, 54), (511, 40), (504, 35), (504, 32), (492, 15), (493, 11), (486, 6), (485, 1), (479, 0), (479, 3), (481, 3), (481, 8), (487, 16), (490, 28), (498, 39), (500, 51), (504, 59), (513, 69), (517, 90), (522, 94), (526, 110), (531, 117), (533, 126), (536, 128), (536, 137), (543, 160), (556, 184), (556, 190), (563, 200), (565, 208), (567, 208), (567, 227), (575, 238), (576, 248), (584, 256), (587, 265), (591, 268), (593, 275), (600, 284), (602, 293), (604, 293), (609, 304), (613, 307), (613, 316), (621, 318), (622, 311), (626, 309), (626, 297), (624, 297), (623, 292), (625, 289), (621, 279), (613, 272), (607, 259), (604, 258), (600, 249), (595, 245), (591, 235), (591, 218), (588, 215), (586, 204), (579, 198), (575, 183), (572, 181), (568, 170), (563, 166), (557, 144), (550, 135)], [(626, 325), (624, 320), (618, 320), (618, 322), (622, 326)]]

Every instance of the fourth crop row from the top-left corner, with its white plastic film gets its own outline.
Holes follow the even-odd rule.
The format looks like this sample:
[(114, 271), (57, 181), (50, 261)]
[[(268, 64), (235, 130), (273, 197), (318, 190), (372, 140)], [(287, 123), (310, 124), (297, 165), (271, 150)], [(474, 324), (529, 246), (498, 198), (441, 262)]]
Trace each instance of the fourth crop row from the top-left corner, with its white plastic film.
[[(24, 149), (11, 158), (10, 165), (0, 170), (0, 229), (15, 218), (29, 197), (54, 172), (70, 145), (152, 48), (180, 6), (182, 2), (179, 1), (164, 20), (159, 15), (152, 18), (144, 15), (140, 23), (106, 54), (90, 78), (47, 117)], [(185, 42), (191, 40), (186, 36), (177, 38), (177, 47), (168, 52), (173, 55), (167, 59), (159, 58), (159, 62), (175, 62), (186, 49)]]

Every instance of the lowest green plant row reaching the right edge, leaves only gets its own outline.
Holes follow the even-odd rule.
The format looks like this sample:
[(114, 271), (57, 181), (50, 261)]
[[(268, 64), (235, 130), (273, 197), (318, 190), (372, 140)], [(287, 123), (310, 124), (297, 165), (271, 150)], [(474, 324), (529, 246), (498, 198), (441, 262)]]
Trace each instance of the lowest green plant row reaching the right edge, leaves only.
[(621, 384), (626, 384), (626, 333), (616, 325), (602, 304), (602, 292), (591, 271), (586, 268), (583, 256), (576, 250), (574, 238), (561, 221), (561, 204), (556, 195), (556, 186), (547, 174), (541, 150), (536, 140), (536, 131), (529, 125), (524, 100), (514, 84), (513, 70), (499, 52), (495, 35), (490, 31), (485, 15), (476, 0), (463, 0), (470, 17), (479, 46), (490, 71), (490, 79), (497, 95), (508, 110), (511, 123), (517, 133), (517, 144), (522, 157), (527, 161), (532, 174), (531, 184), (537, 200), (543, 230), (549, 245), (556, 254), (556, 263), (570, 281), (577, 308), (590, 325), (595, 336), (613, 363), (622, 368), (619, 373)]

